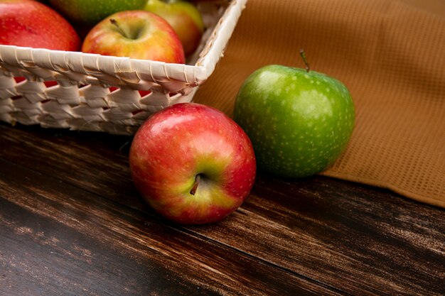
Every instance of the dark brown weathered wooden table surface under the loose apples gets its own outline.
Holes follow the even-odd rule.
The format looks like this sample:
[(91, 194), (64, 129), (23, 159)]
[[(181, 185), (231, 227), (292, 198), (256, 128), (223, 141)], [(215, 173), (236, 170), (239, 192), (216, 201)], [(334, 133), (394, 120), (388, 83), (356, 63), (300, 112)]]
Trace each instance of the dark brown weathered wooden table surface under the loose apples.
[(0, 124), (0, 295), (445, 295), (445, 210), (259, 173), (216, 224), (157, 216), (130, 137)]

